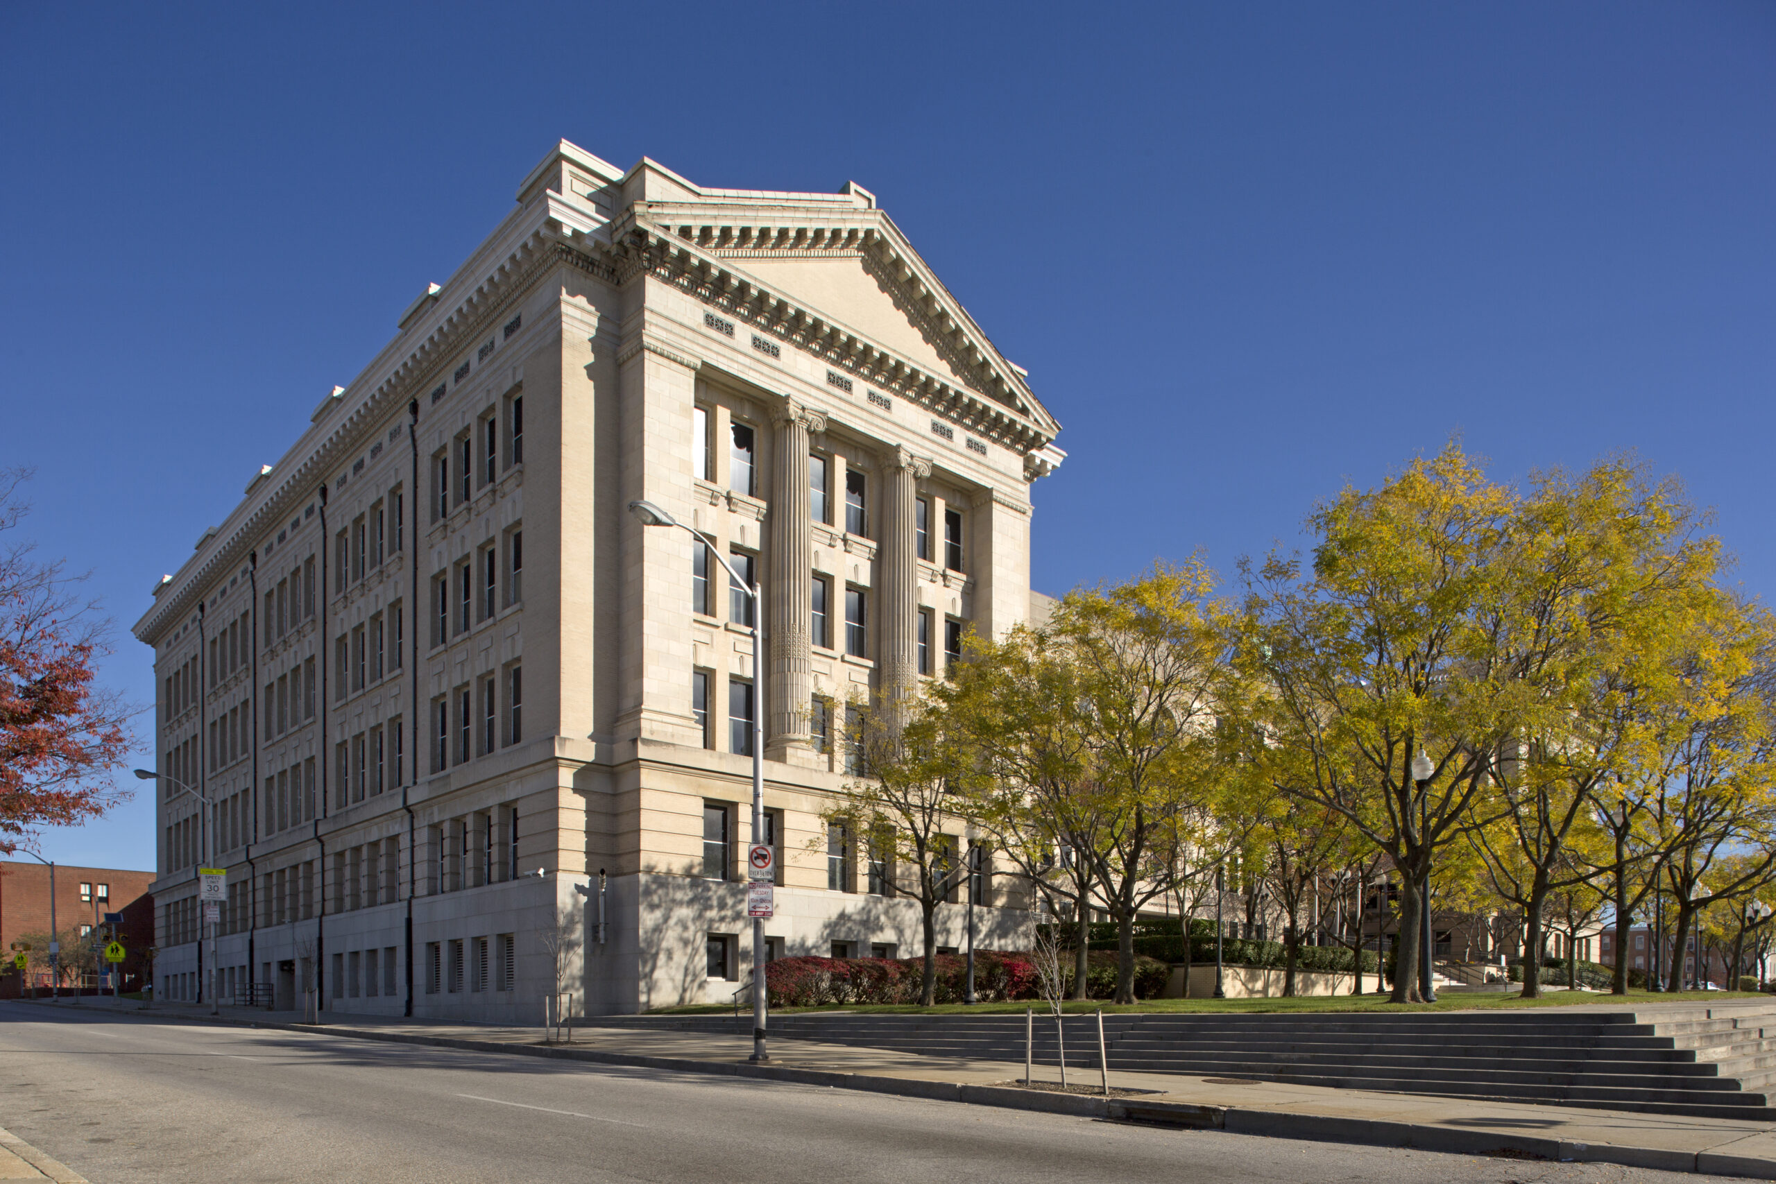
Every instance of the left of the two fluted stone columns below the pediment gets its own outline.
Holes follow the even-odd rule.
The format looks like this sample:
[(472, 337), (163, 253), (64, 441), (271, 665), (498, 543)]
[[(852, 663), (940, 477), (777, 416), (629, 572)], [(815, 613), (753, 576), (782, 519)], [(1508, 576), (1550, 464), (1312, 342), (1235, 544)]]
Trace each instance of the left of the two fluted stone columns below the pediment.
[(813, 698), (813, 531), (808, 513), (808, 433), (824, 431), (826, 417), (785, 398), (773, 408), (771, 440), (771, 591), (765, 596), (765, 648), (771, 655), (771, 696), (765, 754), (787, 760), (790, 747), (808, 747)]

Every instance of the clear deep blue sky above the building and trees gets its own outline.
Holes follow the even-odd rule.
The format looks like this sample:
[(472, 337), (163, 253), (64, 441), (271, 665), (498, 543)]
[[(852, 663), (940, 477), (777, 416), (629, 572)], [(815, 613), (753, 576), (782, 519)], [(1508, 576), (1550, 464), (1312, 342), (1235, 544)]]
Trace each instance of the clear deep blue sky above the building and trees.
[[(0, 37), (0, 465), (142, 703), (151, 584), (563, 137), (876, 192), (1066, 426), (1041, 589), (1231, 573), (1453, 433), (1508, 479), (1634, 451), (1776, 580), (1764, 0), (5, 5)], [(151, 799), (44, 852), (147, 868)]]

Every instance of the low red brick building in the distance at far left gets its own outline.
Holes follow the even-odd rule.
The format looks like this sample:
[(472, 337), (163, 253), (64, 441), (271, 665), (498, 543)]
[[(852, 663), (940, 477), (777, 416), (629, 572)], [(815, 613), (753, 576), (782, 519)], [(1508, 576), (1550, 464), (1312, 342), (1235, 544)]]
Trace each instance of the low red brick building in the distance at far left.
[[(55, 923), (64, 937), (91, 934), (107, 912), (123, 914), (124, 991), (140, 989), (146, 951), (155, 944), (153, 872), (123, 868), (55, 866)], [(0, 863), (0, 955), (11, 957), (23, 934), (50, 932), (50, 868), (43, 863)], [(18, 998), (23, 976), (7, 964), (0, 998)]]

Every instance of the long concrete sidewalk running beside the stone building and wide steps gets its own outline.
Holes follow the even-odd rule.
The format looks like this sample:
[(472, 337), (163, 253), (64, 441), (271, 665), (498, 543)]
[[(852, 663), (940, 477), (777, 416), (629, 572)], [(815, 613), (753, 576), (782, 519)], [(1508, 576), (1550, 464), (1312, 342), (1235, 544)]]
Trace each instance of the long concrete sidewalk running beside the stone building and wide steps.
[[(48, 1001), (39, 1001), (50, 1006)], [(64, 1014), (215, 1022), (206, 1006), (156, 1003), (140, 1010), (83, 999)], [(751, 1038), (632, 1028), (574, 1030), (572, 1044), (543, 1044), (538, 1028), (430, 1022), (325, 1012), (321, 1024), (297, 1022), (289, 1012), (222, 1008), (222, 1022), (329, 1031), (334, 1035), (471, 1051), (568, 1058), (678, 1072), (709, 1072), (835, 1088), (948, 1099), (986, 1106), (1039, 1109), (1124, 1122), (1215, 1127), (1241, 1134), (1414, 1147), (1455, 1154), (1527, 1152), (1545, 1159), (1618, 1163), (1666, 1172), (1700, 1172), (1776, 1179), (1776, 1124), (1726, 1118), (1675, 1118), (1611, 1109), (1483, 1102), (1415, 1093), (1334, 1090), (1277, 1081), (1190, 1077), (1177, 1074), (1110, 1072), (1114, 1090), (1098, 1097), (1025, 1090), (1023, 1063), (947, 1060), (810, 1040), (773, 1040), (771, 1063), (748, 1063)], [(1055, 1081), (1053, 1065), (1037, 1065), (1034, 1079)], [(1082, 1049), (1069, 1065), (1069, 1085), (1099, 1083), (1096, 1049)], [(4, 1177), (0, 1177), (4, 1179)]]

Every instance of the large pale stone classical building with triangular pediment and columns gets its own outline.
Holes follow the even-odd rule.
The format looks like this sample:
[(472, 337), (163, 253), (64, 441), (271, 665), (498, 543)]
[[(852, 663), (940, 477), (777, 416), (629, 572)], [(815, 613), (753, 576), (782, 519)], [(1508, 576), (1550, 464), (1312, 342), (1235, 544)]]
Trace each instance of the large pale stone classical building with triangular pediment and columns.
[[(575, 1010), (726, 999), (755, 710), (771, 953), (915, 953), (899, 870), (821, 817), (844, 705), (1027, 618), (1055, 433), (867, 190), (563, 142), (135, 627), (163, 994), (210, 982), (211, 859), (224, 999), (535, 1019), (558, 962)], [(767, 703), (746, 598), (632, 499), (762, 577)], [(986, 893), (980, 944), (1016, 941), (1018, 886)]]

